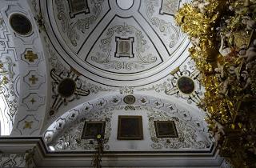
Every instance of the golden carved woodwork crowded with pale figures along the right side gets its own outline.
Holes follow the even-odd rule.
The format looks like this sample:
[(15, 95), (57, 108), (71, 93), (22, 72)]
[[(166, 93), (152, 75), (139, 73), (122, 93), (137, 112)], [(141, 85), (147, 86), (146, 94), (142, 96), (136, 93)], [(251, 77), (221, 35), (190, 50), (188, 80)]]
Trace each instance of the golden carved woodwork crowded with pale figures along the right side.
[(206, 88), (198, 106), (220, 154), (238, 168), (256, 167), (255, 9), (255, 0), (204, 0), (176, 14)]

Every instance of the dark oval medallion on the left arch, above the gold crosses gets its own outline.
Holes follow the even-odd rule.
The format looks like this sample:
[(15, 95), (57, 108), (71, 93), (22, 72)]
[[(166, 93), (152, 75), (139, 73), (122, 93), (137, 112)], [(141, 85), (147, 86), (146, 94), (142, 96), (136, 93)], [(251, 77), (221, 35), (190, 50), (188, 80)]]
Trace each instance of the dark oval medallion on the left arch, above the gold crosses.
[(10, 26), (18, 34), (27, 35), (32, 30), (32, 24), (26, 16), (22, 14), (12, 14), (10, 16)]

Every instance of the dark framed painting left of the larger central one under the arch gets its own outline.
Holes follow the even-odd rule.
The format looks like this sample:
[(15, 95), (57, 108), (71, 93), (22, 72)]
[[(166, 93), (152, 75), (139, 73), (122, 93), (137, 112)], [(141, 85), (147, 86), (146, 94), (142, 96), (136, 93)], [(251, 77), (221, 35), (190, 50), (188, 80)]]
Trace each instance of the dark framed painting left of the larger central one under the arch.
[(96, 139), (98, 134), (104, 138), (106, 122), (85, 122), (82, 130), (82, 139)]

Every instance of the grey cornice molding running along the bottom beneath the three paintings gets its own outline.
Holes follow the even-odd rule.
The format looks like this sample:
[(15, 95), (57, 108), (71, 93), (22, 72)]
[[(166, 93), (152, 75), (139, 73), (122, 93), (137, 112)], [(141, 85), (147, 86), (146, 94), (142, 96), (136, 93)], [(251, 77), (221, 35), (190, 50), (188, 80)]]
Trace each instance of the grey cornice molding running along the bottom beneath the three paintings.
[[(2, 154), (25, 154), (34, 149), (34, 163), (37, 167), (90, 167), (93, 153), (48, 151), (41, 137), (0, 137)], [(188, 159), (190, 158), (190, 159)], [(186, 162), (185, 162), (186, 161)], [(129, 152), (104, 153), (103, 167), (220, 167), (223, 158), (213, 147), (210, 153), (198, 152)]]

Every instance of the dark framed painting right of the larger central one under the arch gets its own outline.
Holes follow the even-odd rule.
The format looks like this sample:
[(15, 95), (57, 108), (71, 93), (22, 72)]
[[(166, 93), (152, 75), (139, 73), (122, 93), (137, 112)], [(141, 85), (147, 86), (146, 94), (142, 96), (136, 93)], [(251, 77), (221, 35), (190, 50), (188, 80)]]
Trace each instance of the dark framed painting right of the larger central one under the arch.
[(157, 138), (178, 138), (174, 121), (154, 121)]

